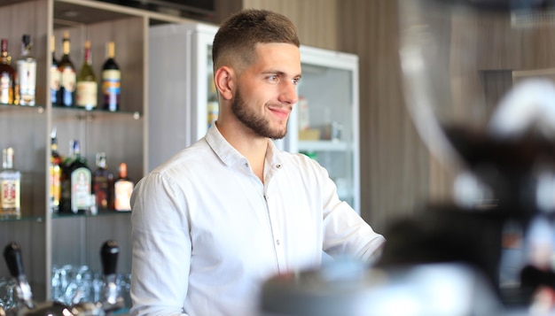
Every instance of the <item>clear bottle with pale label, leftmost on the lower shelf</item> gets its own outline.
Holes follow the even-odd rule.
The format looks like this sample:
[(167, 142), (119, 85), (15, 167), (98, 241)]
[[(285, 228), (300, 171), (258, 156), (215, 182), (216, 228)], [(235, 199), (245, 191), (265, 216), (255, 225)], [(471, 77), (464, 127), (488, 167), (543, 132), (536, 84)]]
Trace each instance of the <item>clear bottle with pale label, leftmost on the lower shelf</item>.
[(0, 209), (3, 216), (20, 216), (21, 173), (13, 167), (13, 148), (2, 150), (0, 172)]

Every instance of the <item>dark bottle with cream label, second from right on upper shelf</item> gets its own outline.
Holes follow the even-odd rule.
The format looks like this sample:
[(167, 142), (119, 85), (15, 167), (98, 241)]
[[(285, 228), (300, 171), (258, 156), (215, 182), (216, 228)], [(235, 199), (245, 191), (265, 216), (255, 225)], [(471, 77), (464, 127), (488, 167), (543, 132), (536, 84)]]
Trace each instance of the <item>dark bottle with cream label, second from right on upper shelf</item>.
[(85, 41), (84, 59), (77, 76), (77, 106), (92, 110), (98, 103), (98, 83), (92, 70), (90, 41)]

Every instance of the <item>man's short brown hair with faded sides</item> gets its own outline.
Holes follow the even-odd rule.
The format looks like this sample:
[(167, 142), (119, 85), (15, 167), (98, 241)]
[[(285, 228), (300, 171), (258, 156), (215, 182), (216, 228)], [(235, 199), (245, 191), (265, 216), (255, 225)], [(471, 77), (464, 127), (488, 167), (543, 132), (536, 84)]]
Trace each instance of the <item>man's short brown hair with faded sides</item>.
[(254, 62), (254, 47), (259, 42), (285, 42), (300, 46), (293, 22), (284, 15), (267, 10), (246, 9), (225, 19), (212, 45), (214, 66), (239, 57), (242, 63)]

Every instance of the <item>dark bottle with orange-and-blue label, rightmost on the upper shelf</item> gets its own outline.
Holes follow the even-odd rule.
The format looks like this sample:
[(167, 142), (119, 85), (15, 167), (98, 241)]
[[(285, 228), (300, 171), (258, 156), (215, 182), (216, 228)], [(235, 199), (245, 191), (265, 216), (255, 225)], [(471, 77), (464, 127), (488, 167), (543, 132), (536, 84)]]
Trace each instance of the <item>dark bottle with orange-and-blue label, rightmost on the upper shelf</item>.
[(104, 110), (116, 112), (120, 109), (121, 70), (115, 62), (115, 44), (108, 42), (106, 62), (102, 66), (102, 95)]

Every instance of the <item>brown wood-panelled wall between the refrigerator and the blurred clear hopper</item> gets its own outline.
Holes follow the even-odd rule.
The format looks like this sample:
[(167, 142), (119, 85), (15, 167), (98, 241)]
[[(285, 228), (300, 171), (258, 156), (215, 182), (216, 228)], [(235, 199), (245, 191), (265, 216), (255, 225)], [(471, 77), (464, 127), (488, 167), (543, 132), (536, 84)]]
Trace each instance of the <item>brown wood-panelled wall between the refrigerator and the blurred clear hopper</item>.
[(360, 57), (363, 218), (384, 230), (429, 197), (430, 165), (403, 100), (396, 1), (338, 5), (340, 50)]

